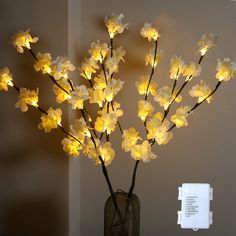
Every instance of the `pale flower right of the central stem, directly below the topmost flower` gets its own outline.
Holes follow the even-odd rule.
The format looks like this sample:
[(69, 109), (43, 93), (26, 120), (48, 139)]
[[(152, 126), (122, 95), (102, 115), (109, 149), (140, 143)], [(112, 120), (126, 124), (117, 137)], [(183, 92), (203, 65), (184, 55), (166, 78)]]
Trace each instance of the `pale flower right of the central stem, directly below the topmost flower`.
[(118, 47), (113, 50), (113, 56), (107, 58), (105, 65), (109, 72), (109, 76), (111, 76), (114, 72), (118, 72), (120, 61), (124, 62), (125, 53), (126, 52), (123, 47)]

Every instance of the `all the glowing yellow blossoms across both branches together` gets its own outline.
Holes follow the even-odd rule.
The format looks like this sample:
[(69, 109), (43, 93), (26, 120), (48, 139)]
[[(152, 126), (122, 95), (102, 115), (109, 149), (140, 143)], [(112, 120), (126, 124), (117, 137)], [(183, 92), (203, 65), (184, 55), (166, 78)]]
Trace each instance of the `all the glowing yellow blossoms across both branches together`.
[[(130, 127), (122, 129), (119, 118), (123, 116), (120, 103), (115, 101), (117, 94), (122, 90), (124, 81), (117, 78), (119, 65), (124, 62), (125, 50), (123, 47), (113, 48), (113, 39), (118, 34), (127, 29), (128, 24), (124, 23), (123, 14), (113, 14), (105, 18), (111, 45), (105, 42), (96, 41), (91, 44), (88, 50), (89, 57), (81, 63), (78, 68), (84, 84), (75, 85), (69, 78), (69, 73), (75, 70), (75, 66), (66, 57), (52, 59), (50, 53), (34, 53), (31, 44), (38, 41), (37, 37), (32, 37), (29, 30), (19, 32), (12, 38), (13, 46), (18, 52), (23, 53), (24, 49), (34, 56), (34, 68), (43, 75), (47, 75), (54, 82), (53, 92), (57, 103), (67, 102), (73, 110), (79, 110), (82, 117), (76, 119), (70, 130), (66, 131), (62, 126), (62, 110), (50, 107), (44, 111), (39, 106), (39, 90), (29, 90), (18, 88), (13, 83), (13, 76), (8, 68), (0, 70), (0, 90), (8, 90), (14, 87), (19, 92), (16, 107), (26, 112), (28, 106), (33, 106), (42, 111), (39, 129), (46, 133), (60, 127), (67, 137), (62, 140), (63, 150), (72, 157), (79, 157), (80, 153), (91, 158), (95, 164), (109, 165), (115, 157), (109, 136), (119, 127), (122, 133), (122, 148), (125, 152), (130, 152), (131, 157), (143, 162), (149, 162), (157, 156), (152, 152), (152, 145), (167, 144), (173, 137), (171, 130), (173, 127), (185, 127), (188, 125), (187, 118), (191, 112), (202, 102), (208, 103), (212, 100), (213, 93), (223, 81), (228, 81), (236, 76), (236, 62), (231, 62), (226, 58), (219, 60), (216, 68), (216, 79), (218, 84), (215, 89), (211, 89), (204, 81), (194, 85), (189, 95), (197, 98), (195, 106), (180, 105), (174, 114), (168, 119), (167, 115), (172, 104), (181, 103), (183, 98), (180, 92), (185, 85), (201, 74), (201, 61), (206, 52), (215, 45), (216, 37), (213, 34), (203, 35), (199, 41), (200, 60), (198, 63), (185, 63), (180, 56), (173, 56), (170, 62), (169, 78), (173, 81), (172, 86), (164, 85), (158, 87), (153, 81), (155, 69), (157, 69), (163, 51), (158, 48), (158, 41), (161, 37), (159, 29), (150, 23), (145, 23), (140, 34), (149, 42), (154, 42), (145, 56), (146, 66), (151, 67), (150, 75), (142, 75), (135, 83), (137, 91), (143, 96), (138, 101), (137, 115), (144, 124), (146, 136), (141, 137), (140, 133)], [(183, 78), (183, 79), (182, 79)], [(177, 83), (183, 81), (183, 85), (178, 88)], [(154, 103), (158, 103), (162, 112), (156, 111), (156, 106), (148, 100), (151, 95)], [(86, 109), (86, 104), (97, 105), (97, 116), (93, 119)], [(100, 136), (100, 137), (99, 137)]]

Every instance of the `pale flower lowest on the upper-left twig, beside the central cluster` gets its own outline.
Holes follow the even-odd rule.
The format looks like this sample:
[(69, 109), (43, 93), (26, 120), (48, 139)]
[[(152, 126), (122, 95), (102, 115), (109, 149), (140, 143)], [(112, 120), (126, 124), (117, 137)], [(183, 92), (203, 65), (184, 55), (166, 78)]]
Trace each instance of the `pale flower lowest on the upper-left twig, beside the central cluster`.
[(75, 91), (71, 92), (71, 98), (68, 102), (72, 109), (83, 109), (84, 101), (89, 98), (88, 88), (85, 85), (76, 86)]

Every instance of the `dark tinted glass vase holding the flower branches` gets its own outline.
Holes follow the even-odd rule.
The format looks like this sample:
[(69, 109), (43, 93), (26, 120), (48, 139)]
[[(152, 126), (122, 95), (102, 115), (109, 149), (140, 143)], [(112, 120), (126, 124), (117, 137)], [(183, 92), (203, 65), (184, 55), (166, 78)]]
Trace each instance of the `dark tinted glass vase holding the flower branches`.
[(104, 236), (139, 236), (140, 203), (137, 195), (117, 191), (115, 193), (121, 219), (110, 196), (105, 203)]

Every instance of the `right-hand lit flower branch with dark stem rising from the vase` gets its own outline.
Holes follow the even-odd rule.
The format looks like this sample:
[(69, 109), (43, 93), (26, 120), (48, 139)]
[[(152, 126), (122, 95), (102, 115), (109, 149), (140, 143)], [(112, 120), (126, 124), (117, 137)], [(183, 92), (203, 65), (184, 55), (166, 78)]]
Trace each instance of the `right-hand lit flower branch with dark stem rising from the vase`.
[[(145, 24), (147, 25), (147, 24)], [(150, 28), (150, 27), (149, 27)], [(141, 34), (143, 33), (143, 29), (141, 30)], [(143, 35), (143, 34), (142, 34)], [(144, 35), (143, 35), (144, 36)], [(148, 38), (148, 37), (147, 37)], [(148, 38), (150, 41), (150, 38)], [(207, 101), (208, 103), (212, 100), (212, 95), (217, 91), (219, 86), (222, 84), (222, 81), (228, 81), (230, 78), (235, 77), (236, 74), (236, 62), (230, 62), (229, 59), (225, 59), (223, 62), (219, 61), (217, 65), (217, 74), (216, 78), (219, 80), (216, 84), (214, 90), (211, 90), (210, 87), (203, 81), (200, 84), (195, 85), (189, 92), (190, 96), (198, 97), (197, 103), (191, 108), (190, 106), (180, 106), (174, 115), (171, 116), (170, 120), (174, 123), (171, 123), (166, 120), (166, 117), (170, 111), (170, 107), (174, 102), (181, 102), (182, 96), (180, 93), (183, 91), (185, 86), (194, 78), (200, 75), (201, 67), (200, 64), (206, 54), (206, 52), (212, 47), (215, 46), (216, 37), (213, 34), (203, 35), (201, 40), (199, 41), (199, 52), (200, 58), (198, 60), (198, 64), (191, 62), (189, 65), (186, 65), (184, 61), (177, 56), (172, 57), (171, 59), (171, 66), (170, 66), (170, 79), (174, 80), (172, 89), (168, 86), (164, 86), (159, 88), (156, 91), (157, 84), (152, 82), (147, 83), (144, 77), (141, 78), (140, 82), (136, 83), (136, 87), (138, 89), (139, 94), (143, 94), (145, 91), (145, 87), (147, 88), (146, 95), (149, 92), (149, 87), (151, 95), (153, 95), (154, 100), (159, 103), (161, 107), (164, 107), (164, 113), (161, 114), (160, 112), (154, 113), (154, 107), (145, 101), (139, 101), (138, 103), (138, 116), (144, 121), (144, 125), (147, 131), (147, 140), (149, 141), (149, 145), (153, 146), (155, 143), (162, 145), (166, 144), (172, 139), (173, 134), (171, 130), (175, 127), (180, 128), (188, 125), (187, 117), (193, 112), (198, 106), (200, 106), (203, 102)], [(147, 57), (150, 60), (150, 56)], [(148, 63), (147, 63), (148, 64)], [(154, 64), (153, 64), (154, 65)], [(178, 91), (175, 91), (177, 86), (177, 80), (179, 79), (180, 75), (185, 76), (185, 81), (180, 87)], [(151, 73), (151, 76), (153, 72)], [(150, 80), (151, 81), (151, 80)], [(146, 96), (147, 97), (147, 96)], [(146, 98), (145, 97), (145, 98)], [(142, 116), (140, 115), (142, 114)], [(151, 117), (148, 119), (148, 117)], [(125, 130), (125, 134), (123, 135), (123, 142), (129, 142), (128, 140), (133, 138), (135, 143), (133, 143), (132, 147), (129, 147), (131, 151), (131, 156), (136, 160), (134, 170), (133, 170), (133, 177), (132, 183), (129, 189), (129, 196), (132, 195), (134, 186), (135, 186), (135, 179), (136, 179), (136, 172), (138, 169), (139, 161), (142, 160), (144, 162), (150, 161), (151, 159), (155, 159), (156, 156), (153, 156), (152, 152), (142, 152), (145, 148), (141, 144), (139, 146), (140, 149), (137, 149), (137, 141), (141, 139), (138, 133), (132, 130), (134, 128), (130, 128), (129, 130)], [(126, 137), (127, 132), (131, 130), (131, 137)], [(147, 143), (146, 143), (147, 144)], [(123, 146), (125, 146), (123, 144)], [(142, 149), (141, 149), (142, 147)], [(139, 151), (138, 151), (139, 150)]]

